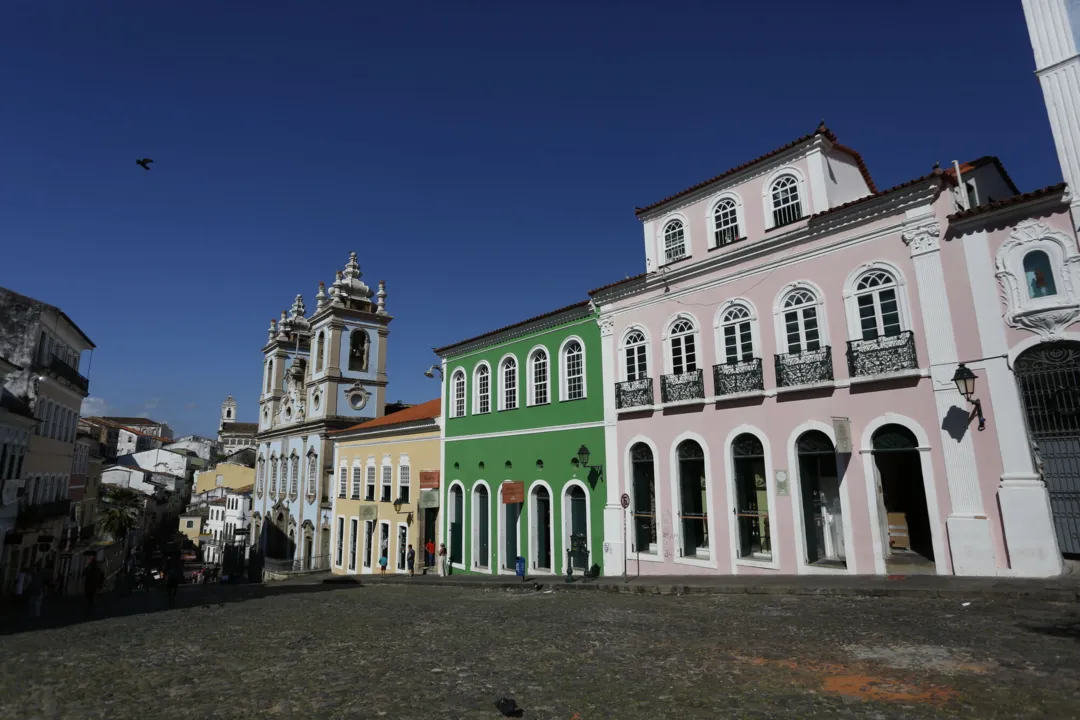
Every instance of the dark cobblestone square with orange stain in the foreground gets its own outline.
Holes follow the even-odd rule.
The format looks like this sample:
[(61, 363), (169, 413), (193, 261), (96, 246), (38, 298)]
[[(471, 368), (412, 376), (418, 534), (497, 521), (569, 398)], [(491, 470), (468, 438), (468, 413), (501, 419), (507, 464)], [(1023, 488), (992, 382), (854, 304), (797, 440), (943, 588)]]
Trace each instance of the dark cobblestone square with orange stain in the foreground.
[(164, 604), (0, 626), (0, 718), (1080, 718), (1076, 603), (376, 581)]

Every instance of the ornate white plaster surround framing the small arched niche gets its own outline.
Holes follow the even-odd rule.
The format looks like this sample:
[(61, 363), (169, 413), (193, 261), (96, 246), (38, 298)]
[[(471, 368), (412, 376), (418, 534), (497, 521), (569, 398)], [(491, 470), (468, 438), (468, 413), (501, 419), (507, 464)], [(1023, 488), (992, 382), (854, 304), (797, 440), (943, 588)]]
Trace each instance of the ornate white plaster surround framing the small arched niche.
[[(1030, 297), (1024, 272), (1024, 259), (1037, 250), (1049, 258), (1056, 289), (1041, 298)], [(1010, 327), (1055, 338), (1080, 318), (1080, 253), (1075, 239), (1045, 222), (1026, 219), (998, 249), (995, 264)]]

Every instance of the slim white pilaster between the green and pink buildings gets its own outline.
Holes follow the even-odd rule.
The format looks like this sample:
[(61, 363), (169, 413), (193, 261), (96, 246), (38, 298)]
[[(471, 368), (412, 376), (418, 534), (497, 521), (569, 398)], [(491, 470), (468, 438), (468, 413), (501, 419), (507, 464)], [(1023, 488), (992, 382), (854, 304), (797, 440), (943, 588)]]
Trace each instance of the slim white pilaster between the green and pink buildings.
[(607, 502), (604, 505), (604, 574), (621, 575), (626, 562), (626, 543), (623, 534), (625, 511), (622, 508), (619, 467), (618, 413), (615, 406), (616, 345), (615, 317), (602, 314), (596, 320), (600, 326), (600, 363), (604, 370), (604, 484)]

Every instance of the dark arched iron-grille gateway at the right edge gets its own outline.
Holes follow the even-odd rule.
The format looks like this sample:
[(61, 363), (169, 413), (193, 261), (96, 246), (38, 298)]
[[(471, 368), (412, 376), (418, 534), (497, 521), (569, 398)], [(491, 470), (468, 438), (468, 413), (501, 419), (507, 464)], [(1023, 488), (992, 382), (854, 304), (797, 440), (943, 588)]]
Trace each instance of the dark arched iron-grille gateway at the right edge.
[(1057, 545), (1065, 555), (1080, 555), (1080, 343), (1036, 345), (1016, 358), (1013, 371)]

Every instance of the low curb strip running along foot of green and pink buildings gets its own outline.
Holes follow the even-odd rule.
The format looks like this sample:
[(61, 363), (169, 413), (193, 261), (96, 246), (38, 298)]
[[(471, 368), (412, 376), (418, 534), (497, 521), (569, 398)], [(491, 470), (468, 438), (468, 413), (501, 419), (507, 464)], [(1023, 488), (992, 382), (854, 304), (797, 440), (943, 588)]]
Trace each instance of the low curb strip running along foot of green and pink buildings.
[[(543, 582), (546, 581), (546, 582)], [(1003, 599), (1003, 600), (1035, 600), (1050, 602), (1080, 602), (1080, 587), (1076, 589), (1054, 588), (1054, 587), (984, 587), (984, 588), (954, 588), (954, 587), (842, 587), (842, 586), (809, 586), (797, 585), (681, 585), (681, 584), (649, 584), (649, 585), (627, 585), (622, 583), (554, 583), (548, 578), (543, 581), (530, 580), (526, 582), (474, 582), (455, 580), (427, 580), (410, 583), (407, 580), (387, 579), (363, 581), (363, 584), (373, 587), (377, 585), (414, 585), (416, 587), (458, 587), (484, 590), (503, 592), (545, 592), (556, 593), (612, 593), (621, 595), (765, 595), (781, 596), (793, 595), (798, 597), (859, 597), (859, 598), (932, 598), (946, 600), (971, 600), (971, 599)], [(324, 580), (324, 583), (334, 583), (332, 580)], [(342, 582), (342, 581), (338, 581)]]

